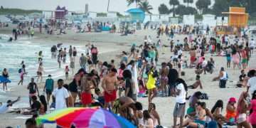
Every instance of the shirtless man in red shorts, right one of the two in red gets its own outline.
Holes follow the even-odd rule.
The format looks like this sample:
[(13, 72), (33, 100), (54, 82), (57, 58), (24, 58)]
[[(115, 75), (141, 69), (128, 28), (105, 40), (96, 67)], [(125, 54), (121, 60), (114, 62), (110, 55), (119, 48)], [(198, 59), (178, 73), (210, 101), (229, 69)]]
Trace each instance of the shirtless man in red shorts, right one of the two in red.
[(108, 105), (111, 103), (111, 107), (113, 107), (114, 100), (117, 99), (117, 69), (112, 68), (110, 73), (108, 73), (102, 80), (102, 88), (104, 90), (104, 99), (106, 109)]

